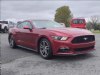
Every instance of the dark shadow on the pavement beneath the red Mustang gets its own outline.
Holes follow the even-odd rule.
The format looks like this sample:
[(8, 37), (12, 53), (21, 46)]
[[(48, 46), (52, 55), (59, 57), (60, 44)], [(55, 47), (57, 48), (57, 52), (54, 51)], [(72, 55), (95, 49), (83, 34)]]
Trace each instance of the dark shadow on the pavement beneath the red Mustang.
[[(18, 47), (17, 50), (21, 50), (24, 51), (26, 53), (30, 53), (32, 55), (36, 55), (39, 56), (41, 59), (43, 59), (39, 53), (32, 51), (32, 50), (28, 50), (22, 47)], [(87, 59), (91, 59), (95, 57), (94, 54), (92, 53), (87, 53), (87, 54), (81, 54), (81, 55), (74, 55), (74, 56), (53, 56), (51, 59), (49, 60), (53, 60), (53, 61), (81, 61), (81, 60), (87, 60)], [(44, 59), (46, 60), (46, 59)]]

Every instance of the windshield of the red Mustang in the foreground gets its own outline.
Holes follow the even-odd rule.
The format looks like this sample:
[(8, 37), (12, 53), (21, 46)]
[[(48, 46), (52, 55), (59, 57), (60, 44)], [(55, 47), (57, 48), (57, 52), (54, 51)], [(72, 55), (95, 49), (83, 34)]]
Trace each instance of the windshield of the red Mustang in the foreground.
[(64, 27), (63, 25), (49, 20), (35, 20), (33, 24), (36, 28), (60, 28)]

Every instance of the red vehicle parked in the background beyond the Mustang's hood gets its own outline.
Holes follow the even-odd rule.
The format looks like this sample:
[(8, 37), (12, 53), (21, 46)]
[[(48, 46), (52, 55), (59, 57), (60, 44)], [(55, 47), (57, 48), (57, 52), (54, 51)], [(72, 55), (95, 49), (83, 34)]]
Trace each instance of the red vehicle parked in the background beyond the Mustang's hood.
[(84, 18), (73, 18), (70, 22), (72, 28), (83, 28), (86, 29), (86, 21)]

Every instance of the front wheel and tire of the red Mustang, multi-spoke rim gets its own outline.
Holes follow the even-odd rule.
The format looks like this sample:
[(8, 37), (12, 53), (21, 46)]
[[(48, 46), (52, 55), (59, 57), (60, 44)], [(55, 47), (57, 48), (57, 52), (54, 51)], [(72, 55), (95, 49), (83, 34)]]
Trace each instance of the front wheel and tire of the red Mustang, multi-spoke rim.
[(39, 53), (44, 59), (52, 58), (51, 43), (45, 38), (39, 42)]

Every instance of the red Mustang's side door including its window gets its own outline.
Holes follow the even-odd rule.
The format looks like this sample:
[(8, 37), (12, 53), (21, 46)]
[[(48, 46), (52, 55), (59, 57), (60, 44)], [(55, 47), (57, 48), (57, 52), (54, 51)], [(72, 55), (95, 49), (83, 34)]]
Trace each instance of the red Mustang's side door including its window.
[[(24, 28), (24, 27), (28, 27), (28, 28)], [(23, 45), (28, 47), (28, 48), (35, 48), (35, 44), (34, 44), (34, 29), (33, 29), (33, 25), (26, 21), (23, 24), (23, 30), (21, 31), (22, 36), (22, 41), (23, 41)]]

